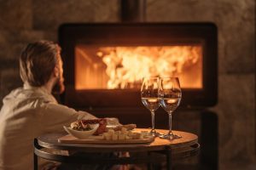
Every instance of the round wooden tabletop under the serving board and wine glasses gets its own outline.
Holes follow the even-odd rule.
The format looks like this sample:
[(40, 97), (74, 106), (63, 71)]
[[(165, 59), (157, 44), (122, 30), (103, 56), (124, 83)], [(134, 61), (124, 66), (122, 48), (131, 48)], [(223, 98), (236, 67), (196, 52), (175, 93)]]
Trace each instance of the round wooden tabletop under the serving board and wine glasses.
[[(147, 128), (137, 128), (136, 131), (148, 131)], [(168, 130), (156, 129), (159, 133), (168, 133)], [(38, 144), (44, 148), (53, 148), (59, 150), (80, 150), (86, 152), (109, 152), (109, 151), (149, 151), (180, 149), (197, 144), (198, 137), (193, 133), (173, 131), (181, 135), (181, 139), (160, 139), (156, 137), (153, 142), (147, 144), (64, 144), (59, 143), (58, 139), (67, 133), (48, 133), (38, 137)]]

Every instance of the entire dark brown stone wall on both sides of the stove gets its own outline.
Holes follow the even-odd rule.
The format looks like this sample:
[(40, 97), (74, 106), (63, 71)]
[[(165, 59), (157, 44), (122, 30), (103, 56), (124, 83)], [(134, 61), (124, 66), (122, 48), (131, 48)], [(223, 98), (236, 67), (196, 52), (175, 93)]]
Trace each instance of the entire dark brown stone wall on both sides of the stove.
[[(219, 99), (211, 110), (218, 114), (219, 167), (255, 159), (254, 0), (148, 0), (146, 15), (218, 26)], [(0, 99), (22, 84), (18, 57), (27, 42), (57, 41), (62, 23), (118, 21), (119, 0), (0, 0)]]

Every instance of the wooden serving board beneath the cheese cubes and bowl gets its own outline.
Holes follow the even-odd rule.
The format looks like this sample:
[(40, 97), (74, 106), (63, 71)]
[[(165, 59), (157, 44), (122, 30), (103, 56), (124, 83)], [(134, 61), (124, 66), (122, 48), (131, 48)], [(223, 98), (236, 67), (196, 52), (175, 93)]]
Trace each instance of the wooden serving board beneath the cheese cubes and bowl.
[(154, 137), (145, 139), (125, 139), (125, 140), (106, 140), (106, 139), (77, 139), (70, 134), (58, 139), (60, 143), (68, 144), (145, 144), (154, 141)]

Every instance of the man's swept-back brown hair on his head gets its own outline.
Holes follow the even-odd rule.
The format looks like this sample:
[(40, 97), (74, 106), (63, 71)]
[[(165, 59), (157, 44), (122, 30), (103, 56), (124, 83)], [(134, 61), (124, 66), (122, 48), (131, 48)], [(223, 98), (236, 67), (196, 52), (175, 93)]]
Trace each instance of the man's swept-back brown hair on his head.
[(33, 87), (49, 81), (60, 59), (61, 48), (50, 41), (29, 43), (20, 55), (20, 77)]

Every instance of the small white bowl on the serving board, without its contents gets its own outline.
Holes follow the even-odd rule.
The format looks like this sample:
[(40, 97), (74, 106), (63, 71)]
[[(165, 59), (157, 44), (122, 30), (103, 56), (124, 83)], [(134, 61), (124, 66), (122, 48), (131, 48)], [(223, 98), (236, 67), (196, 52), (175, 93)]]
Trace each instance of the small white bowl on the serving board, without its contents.
[(67, 133), (73, 135), (73, 137), (76, 137), (78, 139), (87, 139), (89, 138), (93, 133), (96, 132), (97, 128), (100, 125), (98, 123), (96, 124), (91, 124), (90, 127), (92, 127), (91, 130), (88, 131), (79, 131), (79, 130), (73, 130), (71, 127), (64, 127), (64, 129), (66, 130)]

